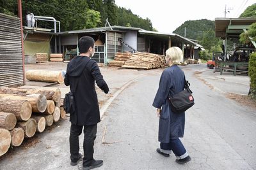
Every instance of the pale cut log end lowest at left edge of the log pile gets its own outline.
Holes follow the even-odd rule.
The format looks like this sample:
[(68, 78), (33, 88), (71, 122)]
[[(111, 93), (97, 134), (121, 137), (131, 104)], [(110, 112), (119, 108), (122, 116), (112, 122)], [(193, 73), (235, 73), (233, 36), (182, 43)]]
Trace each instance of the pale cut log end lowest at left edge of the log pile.
[(12, 136), (7, 129), (0, 128), (0, 157), (8, 151), (11, 145)]

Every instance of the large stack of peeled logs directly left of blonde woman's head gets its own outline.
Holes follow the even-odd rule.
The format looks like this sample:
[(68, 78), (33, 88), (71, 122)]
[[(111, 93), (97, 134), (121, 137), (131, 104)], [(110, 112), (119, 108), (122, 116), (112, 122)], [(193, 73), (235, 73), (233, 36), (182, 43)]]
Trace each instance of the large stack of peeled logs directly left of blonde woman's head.
[(164, 67), (165, 61), (163, 55), (147, 52), (136, 52), (125, 61), (125, 68), (133, 69), (154, 69)]

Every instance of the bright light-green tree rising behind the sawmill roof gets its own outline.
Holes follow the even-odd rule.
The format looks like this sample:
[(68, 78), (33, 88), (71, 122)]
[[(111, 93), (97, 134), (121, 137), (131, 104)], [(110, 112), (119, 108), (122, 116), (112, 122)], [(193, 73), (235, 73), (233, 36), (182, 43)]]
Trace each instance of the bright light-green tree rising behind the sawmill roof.
[(86, 25), (84, 28), (95, 28), (100, 23), (100, 12), (95, 10), (86, 11)]

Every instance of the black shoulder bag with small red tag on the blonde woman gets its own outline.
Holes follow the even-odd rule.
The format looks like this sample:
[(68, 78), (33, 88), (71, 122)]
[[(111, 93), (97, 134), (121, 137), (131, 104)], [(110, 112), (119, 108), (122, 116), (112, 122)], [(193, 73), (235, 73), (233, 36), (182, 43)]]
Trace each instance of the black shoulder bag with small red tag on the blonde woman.
[(192, 91), (189, 89), (190, 83), (184, 77), (184, 90), (168, 97), (170, 101), (171, 110), (174, 113), (181, 113), (191, 108), (194, 103)]

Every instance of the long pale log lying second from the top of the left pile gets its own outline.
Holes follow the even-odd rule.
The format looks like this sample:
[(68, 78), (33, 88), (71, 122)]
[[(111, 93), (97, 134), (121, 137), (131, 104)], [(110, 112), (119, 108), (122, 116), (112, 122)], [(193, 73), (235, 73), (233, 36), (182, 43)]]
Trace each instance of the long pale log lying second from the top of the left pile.
[(12, 94), (0, 94), (0, 99), (28, 101), (32, 106), (33, 112), (44, 113), (44, 111), (47, 108), (47, 99), (42, 94), (29, 94), (26, 96), (17, 96), (17, 95), (12, 95)]

